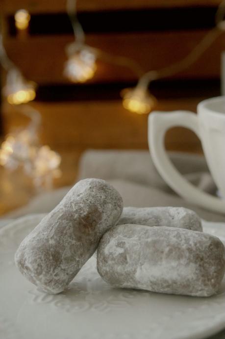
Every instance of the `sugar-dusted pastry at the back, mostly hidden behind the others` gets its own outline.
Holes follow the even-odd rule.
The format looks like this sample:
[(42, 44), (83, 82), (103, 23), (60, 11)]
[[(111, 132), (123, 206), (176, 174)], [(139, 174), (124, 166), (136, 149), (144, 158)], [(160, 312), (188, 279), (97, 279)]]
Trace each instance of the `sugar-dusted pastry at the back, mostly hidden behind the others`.
[(118, 221), (118, 225), (123, 224), (179, 227), (202, 231), (200, 217), (193, 210), (183, 207), (125, 207)]

